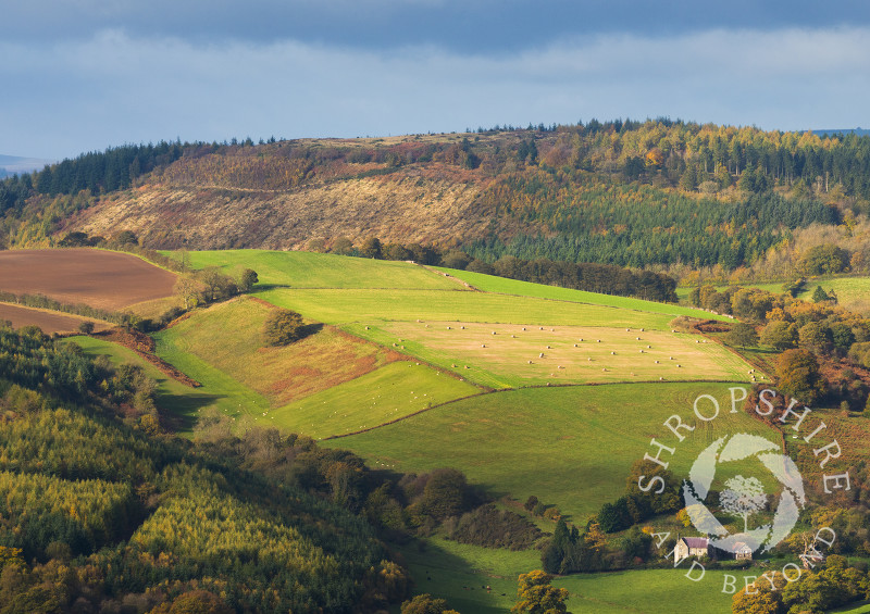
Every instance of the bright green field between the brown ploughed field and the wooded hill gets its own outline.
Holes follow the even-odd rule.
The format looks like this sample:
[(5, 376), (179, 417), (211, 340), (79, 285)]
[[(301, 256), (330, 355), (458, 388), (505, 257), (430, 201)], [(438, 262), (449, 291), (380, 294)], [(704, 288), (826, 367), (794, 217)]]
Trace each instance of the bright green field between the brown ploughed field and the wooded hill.
[(220, 250), (188, 253), (194, 268), (217, 266), (229, 274), (240, 268), (252, 268), (260, 284), (266, 286), (463, 289), (455, 280), (407, 262), (301, 251)]

